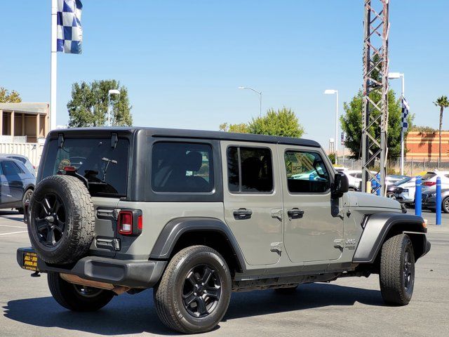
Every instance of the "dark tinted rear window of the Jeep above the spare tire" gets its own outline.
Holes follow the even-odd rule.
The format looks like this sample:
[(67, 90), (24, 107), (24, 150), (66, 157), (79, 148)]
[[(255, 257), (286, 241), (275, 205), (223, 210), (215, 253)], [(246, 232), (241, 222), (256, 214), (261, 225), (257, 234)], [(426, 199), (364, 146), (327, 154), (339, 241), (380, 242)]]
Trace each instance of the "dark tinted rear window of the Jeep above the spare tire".
[(86, 178), (91, 195), (124, 197), (128, 150), (126, 139), (119, 139), (115, 148), (111, 146), (111, 138), (69, 138), (62, 148), (58, 147), (58, 140), (51, 140), (41, 178), (64, 173), (64, 168), (71, 166)]

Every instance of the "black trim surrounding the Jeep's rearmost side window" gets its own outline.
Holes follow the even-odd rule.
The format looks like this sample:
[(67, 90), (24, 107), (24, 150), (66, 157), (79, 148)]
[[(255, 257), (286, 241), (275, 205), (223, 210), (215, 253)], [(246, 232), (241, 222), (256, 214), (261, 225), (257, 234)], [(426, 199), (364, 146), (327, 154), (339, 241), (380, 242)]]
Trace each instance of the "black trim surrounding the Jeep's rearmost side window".
[[(152, 168), (152, 161), (153, 161), (153, 151), (154, 151), (154, 146), (156, 146), (159, 143), (178, 143), (178, 144), (196, 144), (196, 145), (206, 145), (208, 147), (210, 147), (210, 158), (209, 158), (209, 162), (211, 161), (212, 165), (209, 165), (209, 171), (212, 172), (213, 174), (213, 182), (212, 182), (212, 190), (210, 190), (210, 192), (166, 192), (166, 191), (155, 191), (153, 189), (153, 168)], [(150, 155), (149, 155), (149, 187), (150, 190), (152, 192), (152, 194), (156, 194), (156, 195), (204, 195), (204, 196), (208, 196), (208, 195), (213, 195), (215, 194), (216, 190), (217, 190), (217, 183), (216, 183), (216, 177), (215, 177), (215, 158), (214, 158), (214, 153), (213, 153), (213, 145), (207, 142), (195, 142), (195, 141), (180, 141), (180, 140), (168, 140), (168, 139), (163, 139), (163, 140), (155, 140), (152, 145), (151, 145), (151, 151), (150, 151)]]

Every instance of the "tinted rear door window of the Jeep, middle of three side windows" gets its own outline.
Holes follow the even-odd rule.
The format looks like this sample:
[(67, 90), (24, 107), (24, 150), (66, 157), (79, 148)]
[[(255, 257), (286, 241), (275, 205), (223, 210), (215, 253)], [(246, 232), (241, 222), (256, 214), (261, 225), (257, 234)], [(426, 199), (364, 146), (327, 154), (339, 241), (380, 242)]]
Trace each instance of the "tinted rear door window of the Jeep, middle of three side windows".
[(271, 192), (272, 152), (267, 148), (228, 147), (229, 192)]

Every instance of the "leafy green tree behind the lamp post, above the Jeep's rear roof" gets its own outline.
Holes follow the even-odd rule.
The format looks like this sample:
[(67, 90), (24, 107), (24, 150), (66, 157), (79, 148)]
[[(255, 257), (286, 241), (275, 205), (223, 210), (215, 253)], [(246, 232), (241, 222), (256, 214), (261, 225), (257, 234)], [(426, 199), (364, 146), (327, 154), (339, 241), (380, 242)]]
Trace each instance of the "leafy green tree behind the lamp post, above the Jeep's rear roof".
[(128, 89), (114, 79), (72, 84), (72, 100), (67, 103), (69, 127), (103, 126), (107, 123), (107, 93), (118, 89), (119, 95), (111, 95), (111, 125), (133, 124), (128, 99)]

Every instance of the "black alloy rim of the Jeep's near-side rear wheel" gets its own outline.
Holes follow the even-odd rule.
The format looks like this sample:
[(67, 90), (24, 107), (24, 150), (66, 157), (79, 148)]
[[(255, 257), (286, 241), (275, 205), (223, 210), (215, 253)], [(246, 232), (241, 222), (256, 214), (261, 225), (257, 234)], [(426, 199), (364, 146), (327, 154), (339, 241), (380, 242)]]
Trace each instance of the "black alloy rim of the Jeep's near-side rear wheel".
[(221, 296), (222, 280), (210, 265), (196, 265), (185, 277), (182, 303), (193, 317), (203, 318), (217, 308)]

